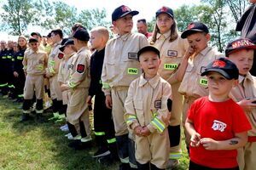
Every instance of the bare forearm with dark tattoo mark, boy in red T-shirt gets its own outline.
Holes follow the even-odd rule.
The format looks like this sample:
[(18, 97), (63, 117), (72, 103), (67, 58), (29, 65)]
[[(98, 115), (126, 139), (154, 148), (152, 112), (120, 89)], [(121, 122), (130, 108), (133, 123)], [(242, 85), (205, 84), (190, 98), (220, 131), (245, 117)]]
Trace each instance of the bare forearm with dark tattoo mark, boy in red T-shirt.
[(206, 150), (236, 150), (247, 143), (247, 132), (235, 133), (235, 137), (227, 140), (214, 140), (210, 138), (203, 138), (200, 144)]

